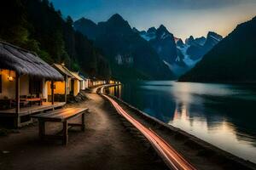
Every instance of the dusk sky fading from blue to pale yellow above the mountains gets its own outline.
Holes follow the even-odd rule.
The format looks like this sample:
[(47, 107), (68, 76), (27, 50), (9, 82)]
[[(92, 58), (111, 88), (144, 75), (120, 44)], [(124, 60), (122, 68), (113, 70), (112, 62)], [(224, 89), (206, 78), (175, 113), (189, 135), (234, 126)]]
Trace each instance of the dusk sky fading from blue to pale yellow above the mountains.
[(256, 0), (51, 0), (56, 9), (73, 20), (81, 17), (108, 20), (120, 14), (132, 27), (148, 30), (161, 24), (175, 37), (207, 36), (216, 31), (227, 36), (230, 31), (256, 16)]

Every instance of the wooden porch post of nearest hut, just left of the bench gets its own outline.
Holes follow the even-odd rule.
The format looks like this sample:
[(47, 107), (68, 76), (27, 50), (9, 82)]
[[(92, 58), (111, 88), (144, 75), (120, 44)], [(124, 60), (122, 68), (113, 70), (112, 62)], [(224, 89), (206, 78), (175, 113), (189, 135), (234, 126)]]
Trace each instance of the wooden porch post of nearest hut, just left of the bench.
[(20, 75), (16, 73), (15, 76), (15, 128), (19, 127), (19, 123), (20, 123)]

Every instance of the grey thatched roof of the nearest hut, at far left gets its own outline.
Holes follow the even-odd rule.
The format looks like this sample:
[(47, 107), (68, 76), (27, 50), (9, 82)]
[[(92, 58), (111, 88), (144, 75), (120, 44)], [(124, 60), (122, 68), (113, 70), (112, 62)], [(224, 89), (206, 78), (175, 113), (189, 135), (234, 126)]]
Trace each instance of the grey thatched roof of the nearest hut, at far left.
[(62, 81), (61, 73), (52, 66), (25, 49), (15, 47), (7, 42), (0, 42), (0, 69), (16, 71), (19, 75)]

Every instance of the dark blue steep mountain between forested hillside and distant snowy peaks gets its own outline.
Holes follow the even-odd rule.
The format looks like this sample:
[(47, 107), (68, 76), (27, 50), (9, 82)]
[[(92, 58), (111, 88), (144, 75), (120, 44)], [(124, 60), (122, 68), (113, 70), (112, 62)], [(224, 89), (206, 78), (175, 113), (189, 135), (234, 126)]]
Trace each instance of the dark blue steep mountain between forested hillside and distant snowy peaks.
[[(92, 21), (90, 21), (92, 22)], [(102, 49), (111, 64), (113, 76), (125, 79), (171, 79), (172, 71), (160, 59), (154, 48), (145, 41), (135, 29), (119, 14), (96, 28), (83, 19), (74, 22), (74, 28), (86, 37), (95, 40), (95, 45)], [(94, 25), (94, 26), (95, 26)], [(89, 35), (93, 32), (92, 35)]]

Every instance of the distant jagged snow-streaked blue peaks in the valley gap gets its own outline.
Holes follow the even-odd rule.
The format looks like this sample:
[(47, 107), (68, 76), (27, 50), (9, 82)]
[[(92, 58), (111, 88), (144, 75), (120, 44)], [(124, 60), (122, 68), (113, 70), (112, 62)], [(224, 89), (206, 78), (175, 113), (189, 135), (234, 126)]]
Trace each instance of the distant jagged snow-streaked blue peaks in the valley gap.
[(151, 44), (160, 59), (177, 77), (193, 68), (203, 55), (222, 39), (217, 33), (209, 31), (207, 38), (190, 36), (184, 43), (182, 39), (174, 37), (163, 25), (157, 29), (151, 27), (148, 31), (138, 31), (136, 28), (133, 28), (133, 31)]

